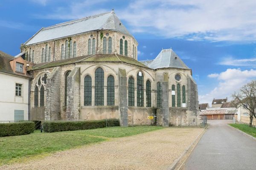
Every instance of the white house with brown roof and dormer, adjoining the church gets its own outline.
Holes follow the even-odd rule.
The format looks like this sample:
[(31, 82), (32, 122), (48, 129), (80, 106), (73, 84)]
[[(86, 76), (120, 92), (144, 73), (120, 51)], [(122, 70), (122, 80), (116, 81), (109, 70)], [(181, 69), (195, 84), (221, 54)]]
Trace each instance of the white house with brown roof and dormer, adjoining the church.
[[(28, 120), (29, 62), (0, 51), (0, 121)], [(24, 56), (23, 56), (24, 57)]]

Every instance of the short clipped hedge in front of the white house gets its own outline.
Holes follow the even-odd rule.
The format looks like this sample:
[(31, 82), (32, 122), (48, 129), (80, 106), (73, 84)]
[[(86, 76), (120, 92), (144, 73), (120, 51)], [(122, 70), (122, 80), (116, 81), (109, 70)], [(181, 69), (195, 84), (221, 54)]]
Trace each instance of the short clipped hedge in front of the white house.
[(29, 133), (33, 133), (34, 128), (35, 128), (35, 123), (30, 121), (15, 122), (15, 123), (0, 123), (0, 137), (26, 135)]

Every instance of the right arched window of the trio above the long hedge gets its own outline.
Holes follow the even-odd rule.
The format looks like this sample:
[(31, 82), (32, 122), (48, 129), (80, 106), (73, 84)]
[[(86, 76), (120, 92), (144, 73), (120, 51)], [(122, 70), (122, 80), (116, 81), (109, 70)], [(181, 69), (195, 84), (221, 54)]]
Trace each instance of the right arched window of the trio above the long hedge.
[(107, 79), (107, 105), (115, 105), (115, 79), (109, 76)]

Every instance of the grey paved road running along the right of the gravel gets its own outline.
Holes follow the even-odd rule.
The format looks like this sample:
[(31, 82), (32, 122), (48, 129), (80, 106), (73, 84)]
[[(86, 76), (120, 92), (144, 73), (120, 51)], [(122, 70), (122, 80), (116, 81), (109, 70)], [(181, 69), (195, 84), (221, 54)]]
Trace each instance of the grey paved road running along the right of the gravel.
[(228, 127), (230, 121), (208, 123), (211, 125), (189, 156), (185, 170), (256, 170), (256, 140)]

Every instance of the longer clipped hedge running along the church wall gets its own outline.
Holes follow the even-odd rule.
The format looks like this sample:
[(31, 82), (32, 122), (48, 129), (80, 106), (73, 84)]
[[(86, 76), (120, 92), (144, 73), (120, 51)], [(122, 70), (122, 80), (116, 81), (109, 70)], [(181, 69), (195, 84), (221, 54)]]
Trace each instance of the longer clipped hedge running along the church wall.
[[(119, 119), (107, 119), (107, 126), (119, 126)], [(90, 121), (45, 121), (44, 132), (59, 132), (70, 130), (85, 130), (106, 127), (106, 119)]]

